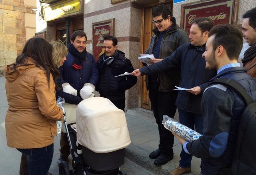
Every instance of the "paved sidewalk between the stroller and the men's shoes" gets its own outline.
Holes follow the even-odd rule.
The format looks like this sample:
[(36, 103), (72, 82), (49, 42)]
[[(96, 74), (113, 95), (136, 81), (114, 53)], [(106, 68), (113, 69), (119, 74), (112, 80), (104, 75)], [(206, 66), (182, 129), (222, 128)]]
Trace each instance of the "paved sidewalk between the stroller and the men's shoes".
[[(175, 115), (175, 119), (178, 115)], [(133, 108), (127, 110), (127, 126), (130, 132), (131, 145), (126, 148), (126, 157), (139, 164), (143, 168), (156, 175), (168, 175), (169, 172), (179, 165), (181, 144), (175, 138), (174, 140), (174, 159), (167, 164), (157, 167), (154, 160), (149, 158), (149, 154), (158, 148), (159, 134), (153, 112), (142, 108)], [(193, 157), (192, 173), (189, 175), (200, 174), (201, 159)]]

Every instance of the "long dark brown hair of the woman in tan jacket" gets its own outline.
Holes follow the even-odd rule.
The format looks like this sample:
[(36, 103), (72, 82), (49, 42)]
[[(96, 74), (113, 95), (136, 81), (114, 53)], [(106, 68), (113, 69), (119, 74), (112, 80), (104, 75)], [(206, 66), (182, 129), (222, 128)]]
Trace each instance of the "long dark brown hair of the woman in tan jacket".
[(50, 87), (50, 74), (55, 80), (59, 76), (59, 71), (52, 60), (52, 46), (43, 38), (30, 38), (25, 43), (22, 53), (16, 58), (13, 69), (20, 64), (26, 65), (28, 58), (31, 57), (36, 61), (38, 67), (42, 67), (46, 73), (46, 77)]

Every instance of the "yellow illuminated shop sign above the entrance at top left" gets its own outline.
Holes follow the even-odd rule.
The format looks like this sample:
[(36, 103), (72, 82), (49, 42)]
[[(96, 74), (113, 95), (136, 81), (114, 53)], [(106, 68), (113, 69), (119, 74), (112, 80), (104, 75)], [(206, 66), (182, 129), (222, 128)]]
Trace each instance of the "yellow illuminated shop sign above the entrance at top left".
[(44, 20), (50, 21), (82, 13), (80, 0), (67, 0), (44, 7)]

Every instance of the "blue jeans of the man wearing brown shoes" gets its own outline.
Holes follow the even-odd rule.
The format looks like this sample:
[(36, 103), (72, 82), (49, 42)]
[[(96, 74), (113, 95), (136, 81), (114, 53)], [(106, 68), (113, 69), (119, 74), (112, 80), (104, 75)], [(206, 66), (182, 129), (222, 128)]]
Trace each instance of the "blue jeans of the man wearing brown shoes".
[[(202, 134), (203, 131), (203, 116), (202, 114), (195, 114), (192, 112), (186, 112), (184, 110), (181, 110), (178, 108), (179, 111), (179, 118), (180, 123), (196, 130), (196, 132), (199, 132)], [(192, 160), (192, 154), (187, 154), (181, 145), (181, 153), (180, 153), (180, 167), (182, 168), (189, 168), (191, 167), (191, 160)]]

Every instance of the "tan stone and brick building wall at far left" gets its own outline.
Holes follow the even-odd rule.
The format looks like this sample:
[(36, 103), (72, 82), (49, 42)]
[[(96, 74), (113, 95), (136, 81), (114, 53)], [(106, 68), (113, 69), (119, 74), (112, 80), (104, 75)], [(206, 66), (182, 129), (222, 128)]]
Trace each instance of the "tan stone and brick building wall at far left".
[(27, 39), (36, 32), (34, 0), (0, 1), (0, 76), (5, 65), (15, 61)]

